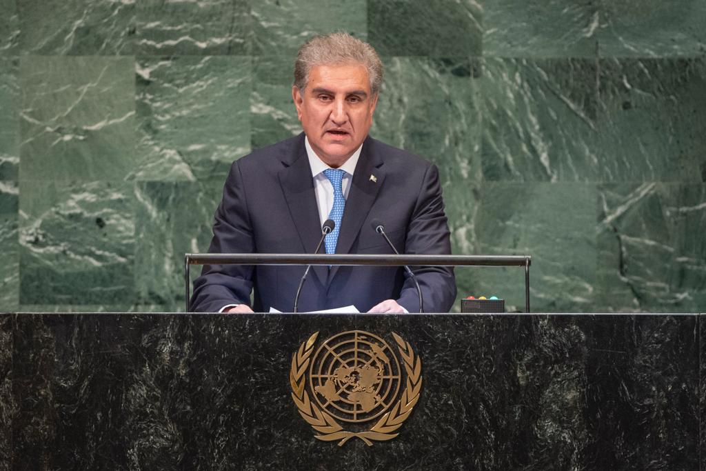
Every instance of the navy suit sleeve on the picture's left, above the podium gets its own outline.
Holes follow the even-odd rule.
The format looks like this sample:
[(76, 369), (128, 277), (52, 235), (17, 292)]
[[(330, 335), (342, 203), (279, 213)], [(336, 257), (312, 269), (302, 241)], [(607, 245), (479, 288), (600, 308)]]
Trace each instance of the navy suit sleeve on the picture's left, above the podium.
[[(230, 168), (213, 224), (209, 253), (250, 254), (255, 251), (243, 177), (238, 162)], [(190, 311), (219, 312), (227, 304), (250, 304), (253, 267), (205, 265), (193, 283)]]

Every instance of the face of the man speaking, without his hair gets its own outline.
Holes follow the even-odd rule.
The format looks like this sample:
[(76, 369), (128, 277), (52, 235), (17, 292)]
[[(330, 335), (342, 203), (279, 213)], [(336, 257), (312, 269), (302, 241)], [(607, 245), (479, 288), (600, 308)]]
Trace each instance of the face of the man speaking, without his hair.
[(334, 168), (368, 136), (378, 103), (362, 64), (313, 66), (304, 92), (295, 86), (292, 97), (311, 148)]

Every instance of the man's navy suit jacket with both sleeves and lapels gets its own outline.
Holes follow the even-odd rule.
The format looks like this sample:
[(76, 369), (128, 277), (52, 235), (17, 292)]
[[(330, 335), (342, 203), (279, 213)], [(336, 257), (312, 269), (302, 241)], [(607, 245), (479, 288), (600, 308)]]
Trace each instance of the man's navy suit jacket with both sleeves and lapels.
[[(371, 179), (371, 175), (377, 181)], [(341, 221), (337, 254), (392, 254), (371, 221), (380, 220), (400, 253), (450, 254), (449, 230), (435, 165), (366, 138)], [(215, 213), (214, 253), (313, 254), (321, 238), (304, 133), (256, 150), (233, 163)], [(323, 246), (322, 246), (323, 251)], [(191, 311), (217, 312), (227, 304), (292, 311), (304, 266), (204, 266), (194, 282)], [(453, 270), (413, 267), (427, 312), (448, 312), (456, 296)], [(299, 311), (354, 304), (368, 311), (397, 299), (419, 311), (417, 290), (403, 268), (314, 266)]]

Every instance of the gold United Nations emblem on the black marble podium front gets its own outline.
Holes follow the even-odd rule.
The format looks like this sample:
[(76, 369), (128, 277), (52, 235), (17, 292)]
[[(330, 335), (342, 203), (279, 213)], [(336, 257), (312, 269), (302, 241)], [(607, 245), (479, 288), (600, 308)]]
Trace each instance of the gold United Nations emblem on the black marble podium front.
[(301, 344), (289, 371), (294, 404), (316, 438), (338, 446), (353, 437), (368, 446), (394, 439), (421, 393), (421, 359), (409, 343), (393, 333), (400, 368), (395, 350), (377, 335), (349, 330), (316, 348), (317, 337)]

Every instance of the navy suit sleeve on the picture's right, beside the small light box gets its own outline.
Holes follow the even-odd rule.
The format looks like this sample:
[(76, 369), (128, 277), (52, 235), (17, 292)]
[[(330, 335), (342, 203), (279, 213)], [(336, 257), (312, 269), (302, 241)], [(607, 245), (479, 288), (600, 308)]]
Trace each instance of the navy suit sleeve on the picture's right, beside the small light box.
[[(450, 232), (444, 213), (438, 169), (431, 165), (424, 174), (417, 205), (407, 229), (405, 254), (451, 253)], [(456, 299), (456, 281), (450, 267), (410, 267), (417, 277), (426, 312), (448, 312)], [(419, 296), (408, 275), (397, 303), (409, 312), (419, 311)]]

